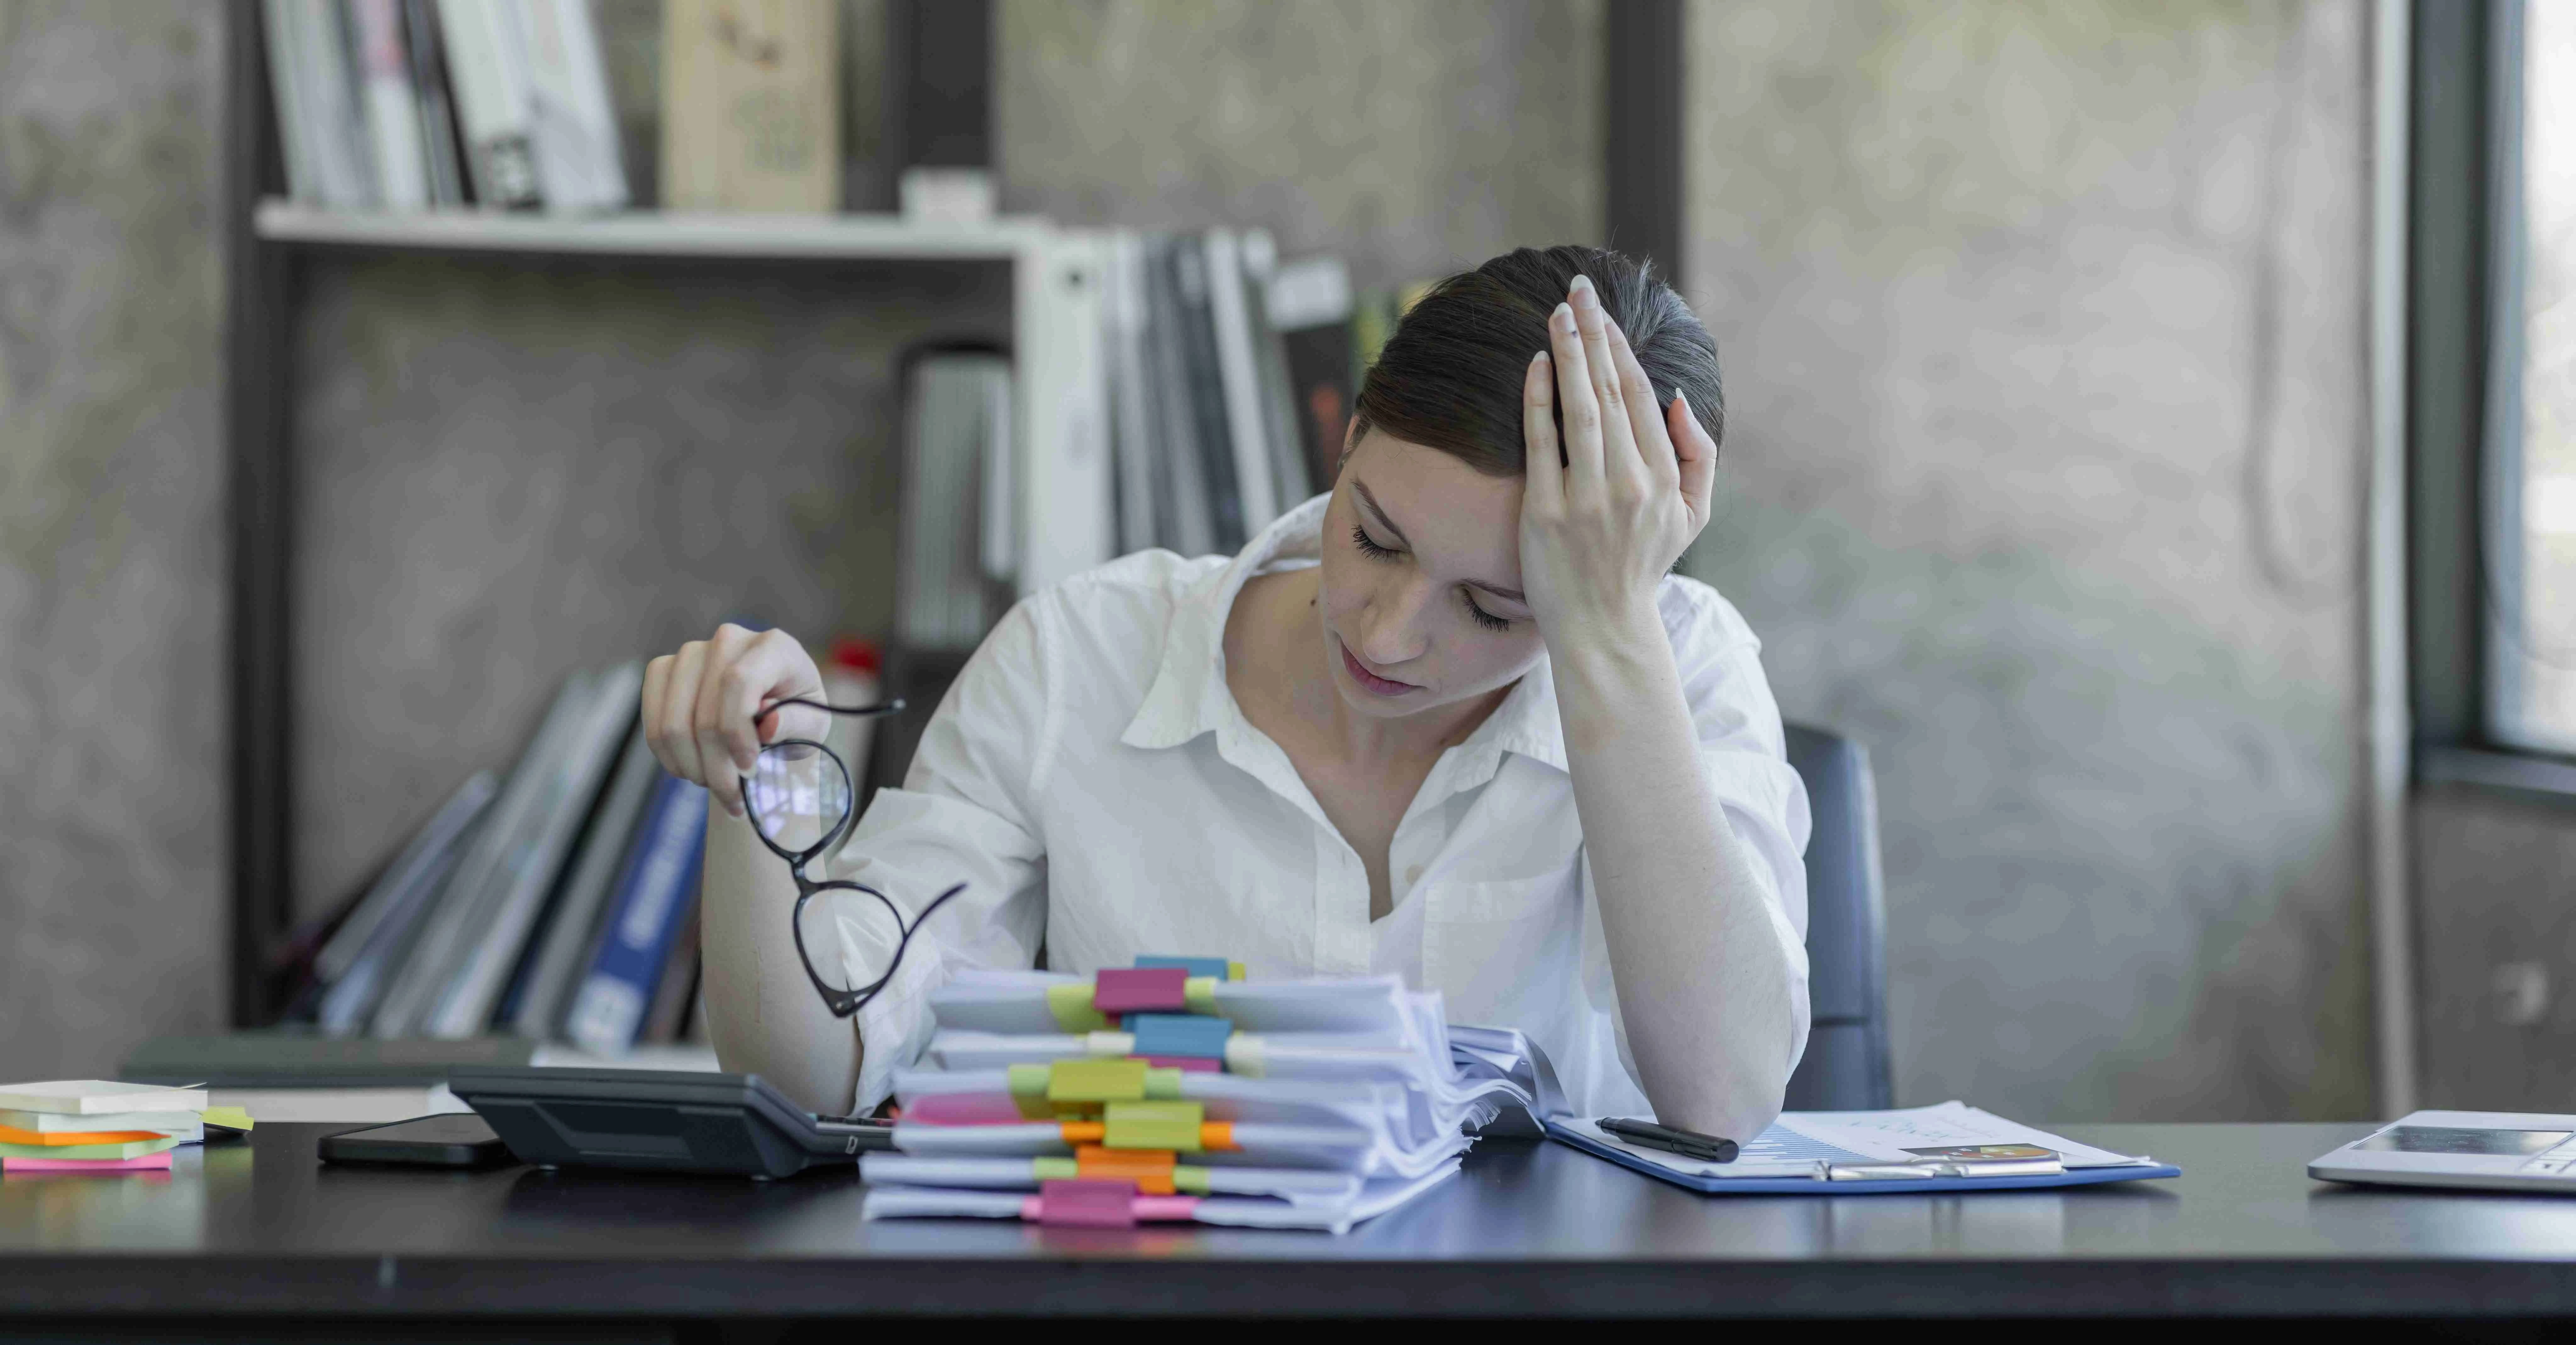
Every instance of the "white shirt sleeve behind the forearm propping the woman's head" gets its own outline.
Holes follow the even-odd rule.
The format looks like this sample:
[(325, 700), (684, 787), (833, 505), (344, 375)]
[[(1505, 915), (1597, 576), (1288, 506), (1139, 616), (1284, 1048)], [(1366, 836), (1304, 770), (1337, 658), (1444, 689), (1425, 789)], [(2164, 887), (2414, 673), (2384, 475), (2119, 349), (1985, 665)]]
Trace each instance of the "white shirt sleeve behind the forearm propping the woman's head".
[[(1806, 837), (1811, 814), (1806, 781), (1788, 765), (1788, 734), (1780, 729), (1780, 703), (1762, 672), (1762, 642), (1716, 590), (1692, 580), (1667, 580), (1662, 595), (1664, 629), (1674, 667), (1682, 675), (1682, 701), (1700, 742), (1700, 770), (1736, 843), (1752, 850), (1762, 884), (1762, 907), (1790, 966), (1790, 1044), (1788, 1067), (1806, 1056), (1814, 1020), (1806, 961)], [(1636, 1080), (1636, 1054), (1628, 1049), (1628, 1023), (1610, 982), (1610, 948), (1600, 928), (1600, 897), (1592, 889), (1592, 861), (1584, 858), (1584, 997), (1610, 1013), (1618, 1062)], [(1726, 974), (1721, 966), (1718, 974)], [(1643, 1087), (1643, 1085), (1638, 1085)]]

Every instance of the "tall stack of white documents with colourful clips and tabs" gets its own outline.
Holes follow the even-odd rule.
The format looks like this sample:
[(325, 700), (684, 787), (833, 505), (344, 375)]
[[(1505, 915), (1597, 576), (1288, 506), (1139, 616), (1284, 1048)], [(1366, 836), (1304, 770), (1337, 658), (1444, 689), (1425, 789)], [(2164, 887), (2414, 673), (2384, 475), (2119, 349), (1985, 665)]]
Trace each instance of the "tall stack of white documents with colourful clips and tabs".
[(1458, 1172), (1471, 1129), (1528, 1116), (1517, 1033), (1453, 1049), (1399, 977), (1247, 982), (1224, 959), (1095, 977), (966, 971), (896, 1072), (868, 1219), (1198, 1221), (1345, 1232)]

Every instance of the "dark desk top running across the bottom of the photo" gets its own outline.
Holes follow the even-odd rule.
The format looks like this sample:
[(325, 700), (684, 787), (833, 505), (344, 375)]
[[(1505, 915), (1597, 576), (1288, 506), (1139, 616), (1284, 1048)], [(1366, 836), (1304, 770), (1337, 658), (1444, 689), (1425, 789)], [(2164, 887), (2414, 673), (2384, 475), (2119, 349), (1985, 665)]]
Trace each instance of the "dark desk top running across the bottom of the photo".
[(0, 1180), (0, 1314), (2571, 1314), (2576, 1198), (2313, 1183), (2365, 1126), (2069, 1126), (2182, 1180), (1703, 1198), (1489, 1141), (1347, 1237), (858, 1219), (860, 1183), (314, 1162)]

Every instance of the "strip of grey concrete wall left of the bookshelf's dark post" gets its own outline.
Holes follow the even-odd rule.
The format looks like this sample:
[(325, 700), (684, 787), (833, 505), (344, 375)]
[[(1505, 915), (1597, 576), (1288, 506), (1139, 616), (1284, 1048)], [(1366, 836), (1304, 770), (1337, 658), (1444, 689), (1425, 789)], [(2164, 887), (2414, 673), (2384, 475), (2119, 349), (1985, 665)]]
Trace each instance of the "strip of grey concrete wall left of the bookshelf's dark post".
[(224, 31), (0, 5), (0, 1077), (222, 1013)]

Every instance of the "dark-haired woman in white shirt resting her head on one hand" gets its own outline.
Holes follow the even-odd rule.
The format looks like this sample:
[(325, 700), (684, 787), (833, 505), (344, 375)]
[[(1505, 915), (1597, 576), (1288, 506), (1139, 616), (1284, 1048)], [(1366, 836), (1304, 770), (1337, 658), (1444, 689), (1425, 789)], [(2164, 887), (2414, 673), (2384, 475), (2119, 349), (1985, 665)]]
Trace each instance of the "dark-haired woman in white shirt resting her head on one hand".
[[(806, 982), (742, 819), (786, 634), (654, 660), (644, 724), (706, 783), (708, 1023), (729, 1069), (876, 1105), (963, 964), (1139, 953), (1396, 971), (1517, 1025), (1584, 1116), (1752, 1136), (1806, 1046), (1806, 791), (1757, 642), (1667, 575), (1708, 523), (1716, 345), (1646, 268), (1517, 250), (1425, 296), (1332, 492), (1236, 557), (1144, 551), (1023, 600), (840, 876), (922, 904), (853, 1023)], [(884, 971), (884, 961), (873, 974)]]

